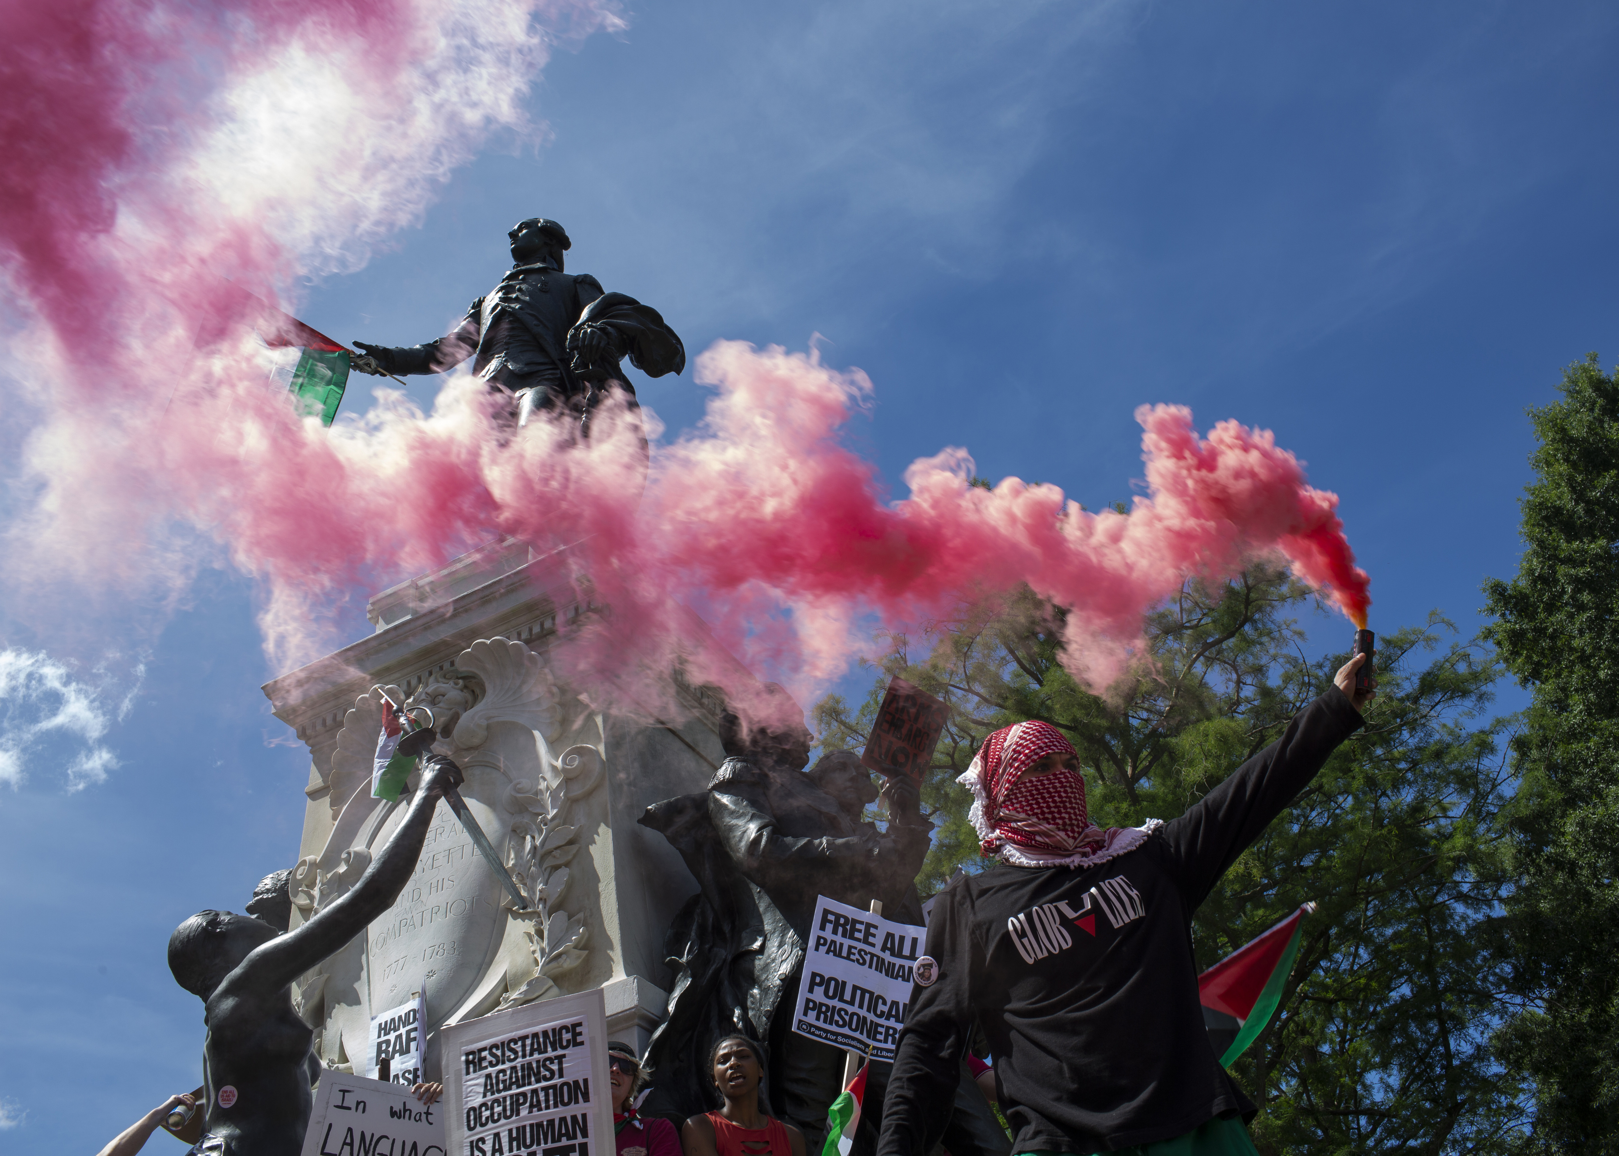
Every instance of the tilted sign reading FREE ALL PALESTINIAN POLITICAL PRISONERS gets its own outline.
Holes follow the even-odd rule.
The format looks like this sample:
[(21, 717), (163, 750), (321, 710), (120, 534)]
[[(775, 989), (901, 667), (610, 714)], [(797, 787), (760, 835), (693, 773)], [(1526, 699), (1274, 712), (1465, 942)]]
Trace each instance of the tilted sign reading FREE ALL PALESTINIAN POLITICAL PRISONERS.
[(926, 934), (926, 928), (890, 923), (819, 895), (793, 1031), (892, 1060), (910, 1010), (911, 968)]

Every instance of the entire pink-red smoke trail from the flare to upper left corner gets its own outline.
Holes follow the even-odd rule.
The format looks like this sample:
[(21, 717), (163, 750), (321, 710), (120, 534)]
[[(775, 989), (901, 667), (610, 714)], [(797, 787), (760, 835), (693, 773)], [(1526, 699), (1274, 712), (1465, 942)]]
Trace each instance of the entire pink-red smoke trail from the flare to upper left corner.
[[(1200, 439), (1179, 406), (1137, 413), (1148, 495), (1127, 515), (1056, 486), (971, 487), (965, 450), (913, 463), (910, 497), (890, 502), (839, 440), (871, 382), (730, 342), (698, 358), (708, 416), (656, 448), (640, 504), (622, 414), (604, 413), (588, 450), (562, 429), (495, 437), (495, 403), (465, 372), (427, 414), (379, 390), (329, 431), (296, 418), (264, 384), (251, 295), (361, 262), (479, 134), (520, 125), (515, 94), (544, 62), (531, 18), (575, 34), (618, 19), (583, 0), (79, 0), (3, 16), (0, 248), (39, 414), (15, 567), (172, 596), (222, 547), (262, 583), (285, 667), (348, 641), (330, 631), (342, 599), (515, 534), (572, 544), (575, 576), (612, 607), (575, 648), (581, 677), (656, 682), (636, 670), (690, 646), (693, 607), (800, 695), (874, 628), (1025, 581), (1070, 607), (1065, 661), (1093, 685), (1188, 573), (1279, 554), (1363, 617), (1337, 499), (1268, 432), (1227, 421)], [(334, 165), (330, 141), (377, 144)], [(698, 674), (724, 682), (722, 665)]]

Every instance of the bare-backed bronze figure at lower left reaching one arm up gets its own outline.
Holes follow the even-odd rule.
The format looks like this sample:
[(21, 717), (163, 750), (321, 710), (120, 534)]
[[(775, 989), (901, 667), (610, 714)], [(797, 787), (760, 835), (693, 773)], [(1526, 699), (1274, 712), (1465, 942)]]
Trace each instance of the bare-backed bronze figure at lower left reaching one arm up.
[(319, 1060), (293, 1010), (291, 983), (363, 934), (398, 899), (444, 792), (461, 784), (447, 758), (423, 759), (405, 821), (353, 889), (293, 931), (233, 912), (198, 912), (168, 939), (168, 970), (206, 1007), (207, 1094), (198, 1156), (295, 1156), (303, 1148)]

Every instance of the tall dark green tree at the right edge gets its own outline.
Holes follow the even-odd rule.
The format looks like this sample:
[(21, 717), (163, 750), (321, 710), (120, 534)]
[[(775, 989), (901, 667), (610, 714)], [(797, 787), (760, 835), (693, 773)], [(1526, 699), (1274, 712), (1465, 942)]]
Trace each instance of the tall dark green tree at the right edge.
[(1489, 636), (1533, 688), (1502, 954), (1502, 1057), (1533, 1080), (1538, 1151), (1619, 1153), (1619, 382), (1593, 353), (1530, 410), (1523, 557), (1489, 581)]

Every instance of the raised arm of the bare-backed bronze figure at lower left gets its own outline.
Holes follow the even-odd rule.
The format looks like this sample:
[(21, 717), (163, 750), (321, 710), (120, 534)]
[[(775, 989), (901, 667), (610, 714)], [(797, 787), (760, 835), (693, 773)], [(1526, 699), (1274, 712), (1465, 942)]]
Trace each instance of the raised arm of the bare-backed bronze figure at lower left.
[(439, 754), (427, 756), (423, 761), (421, 787), (416, 788), (405, 822), (359, 876), (359, 882), (301, 928), (254, 949), (232, 980), (256, 988), (285, 988), (364, 931), (405, 889), (421, 860), (421, 845), (427, 839), (439, 800), (447, 788), (460, 784), (461, 769), (455, 763)]

